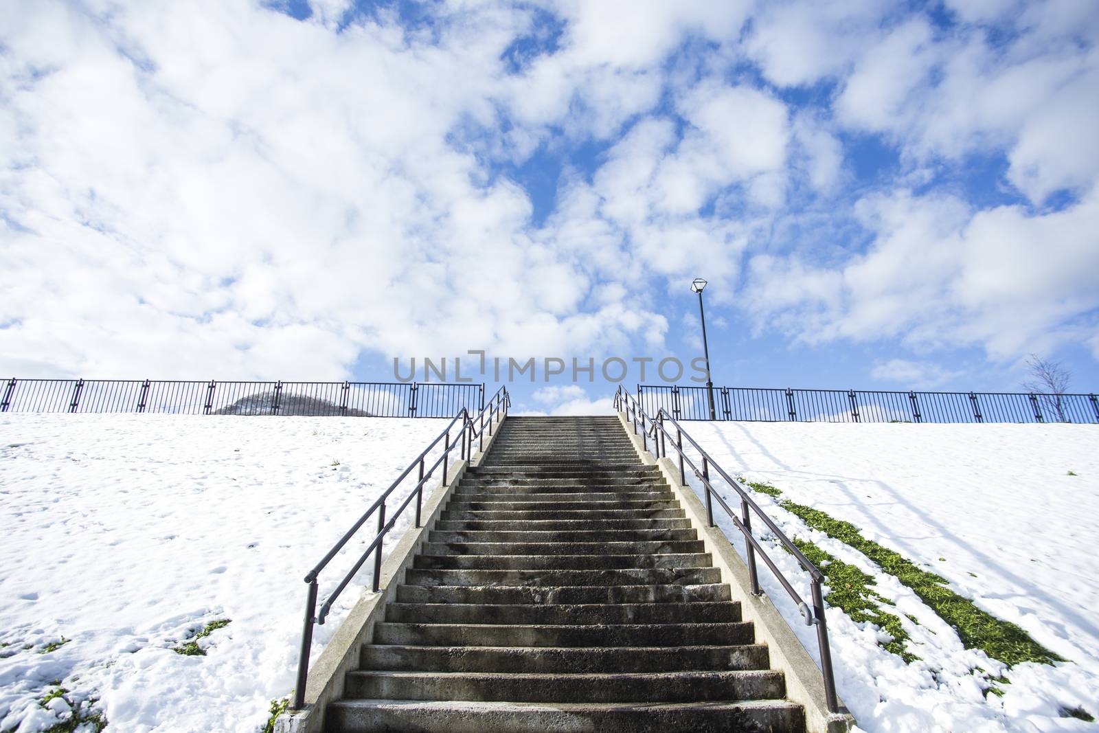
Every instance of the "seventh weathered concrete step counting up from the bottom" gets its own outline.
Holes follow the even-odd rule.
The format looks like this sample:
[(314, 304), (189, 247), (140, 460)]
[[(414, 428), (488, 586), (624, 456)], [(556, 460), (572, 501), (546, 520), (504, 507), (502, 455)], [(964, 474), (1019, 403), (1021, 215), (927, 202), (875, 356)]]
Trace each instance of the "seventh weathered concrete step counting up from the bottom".
[(667, 586), (721, 582), (715, 567), (653, 567), (614, 570), (428, 570), (404, 571), (410, 586)]

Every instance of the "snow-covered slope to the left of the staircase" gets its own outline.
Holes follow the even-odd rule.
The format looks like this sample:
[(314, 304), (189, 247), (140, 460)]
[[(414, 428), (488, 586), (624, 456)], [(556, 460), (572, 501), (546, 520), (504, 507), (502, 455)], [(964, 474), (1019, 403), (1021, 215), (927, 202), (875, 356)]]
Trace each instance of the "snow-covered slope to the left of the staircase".
[[(108, 731), (258, 731), (293, 686), (302, 577), (444, 426), (0, 417), (0, 730), (44, 730), (95, 697)], [(322, 599), (352, 562), (322, 574)], [(171, 651), (218, 619), (206, 656)], [(69, 692), (44, 708), (55, 680)]]

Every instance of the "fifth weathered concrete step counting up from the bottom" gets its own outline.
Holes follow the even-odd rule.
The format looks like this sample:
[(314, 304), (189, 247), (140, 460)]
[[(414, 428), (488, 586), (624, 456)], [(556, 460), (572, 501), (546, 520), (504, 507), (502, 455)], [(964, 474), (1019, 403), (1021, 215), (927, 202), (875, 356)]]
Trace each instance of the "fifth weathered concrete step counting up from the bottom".
[(732, 601), (693, 603), (390, 603), (386, 621), (587, 625), (608, 623), (723, 623), (741, 620)]

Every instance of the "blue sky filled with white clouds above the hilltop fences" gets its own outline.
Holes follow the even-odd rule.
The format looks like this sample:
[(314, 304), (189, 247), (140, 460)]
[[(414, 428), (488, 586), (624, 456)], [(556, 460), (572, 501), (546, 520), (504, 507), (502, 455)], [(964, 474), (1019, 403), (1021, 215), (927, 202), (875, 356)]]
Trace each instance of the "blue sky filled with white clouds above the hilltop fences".
[(0, 370), (687, 363), (702, 276), (719, 385), (1092, 391), (1097, 41), (1054, 0), (32, 3)]

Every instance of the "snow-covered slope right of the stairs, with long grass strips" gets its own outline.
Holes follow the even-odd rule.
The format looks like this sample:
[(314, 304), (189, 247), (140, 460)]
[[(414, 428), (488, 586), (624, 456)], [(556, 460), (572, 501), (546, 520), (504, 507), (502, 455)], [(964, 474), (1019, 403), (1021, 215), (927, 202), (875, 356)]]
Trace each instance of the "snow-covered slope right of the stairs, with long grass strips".
[[(829, 611), (840, 696), (867, 731), (1096, 731), (1099, 719), (1099, 426), (684, 423), (731, 475), (854, 523), (864, 537), (945, 577), (958, 593), (1022, 626), (1068, 663), (1004, 671), (911, 590), (861, 553), (808, 530), (767, 496), (790, 536), (859, 567), (896, 602), (912, 651), (904, 664), (878, 635)], [(1076, 474), (1069, 475), (1069, 471)], [(726, 495), (728, 496), (728, 495)], [(732, 504), (736, 506), (736, 504)], [(720, 510), (719, 510), (720, 511)], [(736, 532), (725, 523), (725, 532)], [(807, 576), (771, 553), (796, 587)], [(768, 595), (814, 656), (812, 629), (761, 564)], [(911, 614), (919, 625), (903, 614)], [(977, 667), (983, 668), (981, 673)], [(1003, 697), (981, 692), (1006, 674)]]

